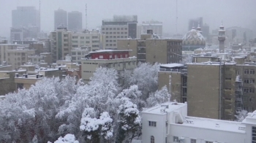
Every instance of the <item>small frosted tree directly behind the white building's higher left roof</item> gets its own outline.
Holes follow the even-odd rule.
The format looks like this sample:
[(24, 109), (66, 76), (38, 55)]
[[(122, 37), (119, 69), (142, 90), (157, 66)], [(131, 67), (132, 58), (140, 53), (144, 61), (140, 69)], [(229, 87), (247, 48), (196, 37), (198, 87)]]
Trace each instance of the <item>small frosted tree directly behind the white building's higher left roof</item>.
[(146, 99), (148, 107), (154, 107), (157, 104), (162, 104), (170, 101), (170, 93), (168, 92), (166, 85), (161, 90), (157, 90), (154, 93), (150, 93)]

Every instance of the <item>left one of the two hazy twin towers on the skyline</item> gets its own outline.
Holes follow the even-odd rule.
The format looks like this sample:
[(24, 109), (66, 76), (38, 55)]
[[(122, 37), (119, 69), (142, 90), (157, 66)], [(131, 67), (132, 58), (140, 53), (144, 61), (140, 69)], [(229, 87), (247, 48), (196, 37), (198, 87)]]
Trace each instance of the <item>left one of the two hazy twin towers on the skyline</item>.
[(67, 11), (63, 9), (54, 11), (54, 30), (59, 26), (67, 27)]

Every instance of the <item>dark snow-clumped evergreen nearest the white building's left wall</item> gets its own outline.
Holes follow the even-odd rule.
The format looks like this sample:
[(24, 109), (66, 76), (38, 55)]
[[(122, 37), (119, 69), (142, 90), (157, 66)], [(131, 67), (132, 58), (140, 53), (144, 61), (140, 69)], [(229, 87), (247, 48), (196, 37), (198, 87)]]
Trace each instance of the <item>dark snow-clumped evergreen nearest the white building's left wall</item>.
[(116, 142), (132, 142), (136, 136), (140, 136), (141, 117), (137, 105), (129, 101), (129, 98), (122, 98), (123, 104), (118, 108), (118, 134)]

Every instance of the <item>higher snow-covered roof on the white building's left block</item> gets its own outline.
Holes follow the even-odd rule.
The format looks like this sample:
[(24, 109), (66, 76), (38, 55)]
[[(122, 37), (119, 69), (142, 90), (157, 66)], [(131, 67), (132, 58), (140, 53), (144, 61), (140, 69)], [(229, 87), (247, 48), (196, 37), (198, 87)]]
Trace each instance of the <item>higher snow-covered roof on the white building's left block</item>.
[[(176, 109), (187, 106), (187, 103), (168, 102), (165, 104), (159, 104), (155, 107), (144, 109), (142, 113), (165, 115), (167, 112), (173, 112)], [(165, 109), (165, 112), (162, 112)]]

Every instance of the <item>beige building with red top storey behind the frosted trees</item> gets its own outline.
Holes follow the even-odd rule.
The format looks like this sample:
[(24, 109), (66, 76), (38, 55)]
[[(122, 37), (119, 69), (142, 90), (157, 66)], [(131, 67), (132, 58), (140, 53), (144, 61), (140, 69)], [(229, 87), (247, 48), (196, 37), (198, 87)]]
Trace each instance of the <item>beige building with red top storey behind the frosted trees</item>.
[(121, 72), (135, 69), (137, 63), (136, 57), (129, 57), (129, 50), (97, 50), (89, 52), (81, 60), (81, 66), (83, 82), (88, 83), (100, 66)]

